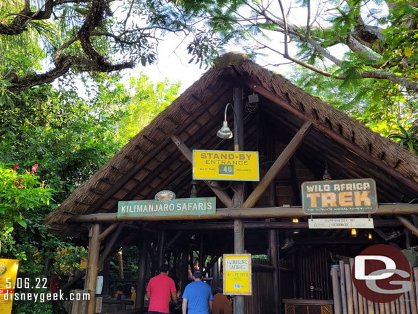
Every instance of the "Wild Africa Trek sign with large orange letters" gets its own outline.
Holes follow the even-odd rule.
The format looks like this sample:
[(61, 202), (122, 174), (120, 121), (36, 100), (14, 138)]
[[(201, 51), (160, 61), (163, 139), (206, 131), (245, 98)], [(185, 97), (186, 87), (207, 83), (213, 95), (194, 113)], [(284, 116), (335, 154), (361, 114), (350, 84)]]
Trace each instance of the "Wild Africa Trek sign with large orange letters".
[(302, 208), (306, 215), (376, 213), (376, 182), (373, 179), (304, 182)]

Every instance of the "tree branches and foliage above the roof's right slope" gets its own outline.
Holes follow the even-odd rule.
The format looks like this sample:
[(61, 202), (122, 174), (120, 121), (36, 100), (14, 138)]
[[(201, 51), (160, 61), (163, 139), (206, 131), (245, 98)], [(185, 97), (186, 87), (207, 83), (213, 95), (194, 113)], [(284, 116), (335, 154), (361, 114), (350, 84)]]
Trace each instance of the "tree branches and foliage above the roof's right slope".
[[(212, 30), (208, 40), (217, 34), (216, 47), (199, 60), (228, 45), (251, 56), (268, 54), (272, 66), (288, 60), (299, 66), (299, 86), (386, 136), (403, 133), (397, 125), (410, 128), (417, 119), (416, 1), (180, 2), (204, 16)], [(330, 89), (339, 95), (332, 97)]]

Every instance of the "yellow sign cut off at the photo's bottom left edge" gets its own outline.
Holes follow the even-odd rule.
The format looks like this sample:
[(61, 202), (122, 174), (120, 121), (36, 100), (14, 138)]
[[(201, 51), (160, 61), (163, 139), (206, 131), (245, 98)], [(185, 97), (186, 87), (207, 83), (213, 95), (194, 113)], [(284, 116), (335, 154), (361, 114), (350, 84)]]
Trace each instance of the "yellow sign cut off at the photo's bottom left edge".
[(18, 267), (18, 260), (0, 258), (0, 314), (12, 313)]

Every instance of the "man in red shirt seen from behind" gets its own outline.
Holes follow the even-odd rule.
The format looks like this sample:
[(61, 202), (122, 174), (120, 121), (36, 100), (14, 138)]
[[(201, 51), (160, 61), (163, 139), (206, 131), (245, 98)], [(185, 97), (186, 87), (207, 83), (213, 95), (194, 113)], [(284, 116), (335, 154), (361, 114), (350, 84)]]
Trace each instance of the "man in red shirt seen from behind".
[(169, 265), (161, 265), (160, 274), (151, 278), (148, 282), (148, 314), (169, 314), (170, 295), (175, 304), (178, 304), (174, 280), (169, 277), (169, 269)]

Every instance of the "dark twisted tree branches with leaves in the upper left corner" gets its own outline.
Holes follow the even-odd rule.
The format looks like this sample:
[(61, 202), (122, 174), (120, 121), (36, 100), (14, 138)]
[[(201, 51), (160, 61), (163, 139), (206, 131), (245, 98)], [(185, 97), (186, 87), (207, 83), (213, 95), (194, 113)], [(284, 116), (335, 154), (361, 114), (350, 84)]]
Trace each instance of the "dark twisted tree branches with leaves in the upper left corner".
[[(205, 27), (199, 29), (198, 21), (171, 0), (2, 1), (0, 93), (20, 93), (68, 73), (110, 73), (152, 64), (168, 33), (190, 35), (190, 45), (200, 53), (210, 45), (201, 45)], [(38, 45), (25, 51), (25, 41)], [(19, 55), (16, 62), (14, 53), (25, 58)], [(42, 67), (34, 71), (40, 62)]]

